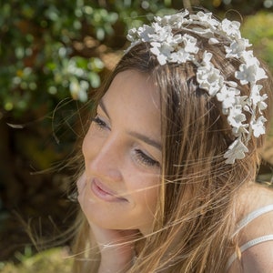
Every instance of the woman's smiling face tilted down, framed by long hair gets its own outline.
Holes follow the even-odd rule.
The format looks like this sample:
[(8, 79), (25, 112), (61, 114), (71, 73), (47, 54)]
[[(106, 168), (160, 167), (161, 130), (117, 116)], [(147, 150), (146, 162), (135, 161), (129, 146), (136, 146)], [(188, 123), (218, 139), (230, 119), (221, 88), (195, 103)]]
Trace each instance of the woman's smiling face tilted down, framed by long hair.
[(119, 73), (102, 97), (83, 143), (79, 202), (88, 221), (147, 234), (160, 184), (159, 96), (148, 76)]

